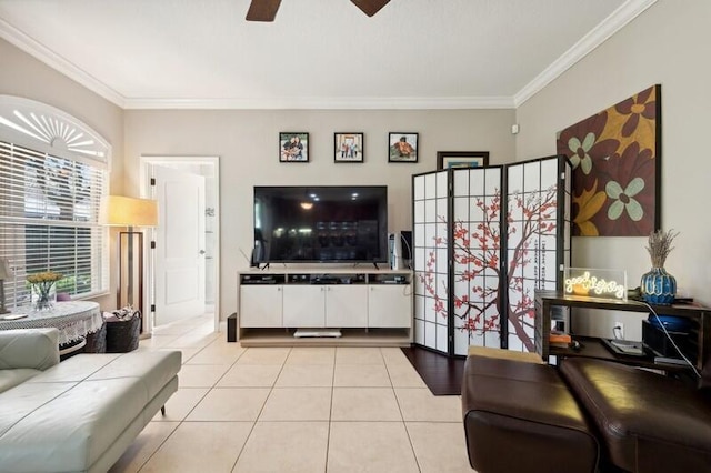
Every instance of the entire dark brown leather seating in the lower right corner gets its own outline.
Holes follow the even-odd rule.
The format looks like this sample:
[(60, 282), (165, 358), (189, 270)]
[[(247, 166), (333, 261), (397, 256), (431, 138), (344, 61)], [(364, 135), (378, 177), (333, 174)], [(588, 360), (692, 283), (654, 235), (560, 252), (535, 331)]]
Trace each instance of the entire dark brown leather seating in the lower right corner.
[(711, 472), (707, 389), (647, 370), (470, 355), (462, 410), (478, 473)]

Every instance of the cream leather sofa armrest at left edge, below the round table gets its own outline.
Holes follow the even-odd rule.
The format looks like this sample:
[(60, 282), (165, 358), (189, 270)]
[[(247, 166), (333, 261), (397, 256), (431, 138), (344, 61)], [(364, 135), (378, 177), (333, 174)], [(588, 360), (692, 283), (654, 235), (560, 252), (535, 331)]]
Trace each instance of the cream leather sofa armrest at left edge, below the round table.
[(57, 329), (0, 330), (0, 370), (44, 371), (59, 363)]

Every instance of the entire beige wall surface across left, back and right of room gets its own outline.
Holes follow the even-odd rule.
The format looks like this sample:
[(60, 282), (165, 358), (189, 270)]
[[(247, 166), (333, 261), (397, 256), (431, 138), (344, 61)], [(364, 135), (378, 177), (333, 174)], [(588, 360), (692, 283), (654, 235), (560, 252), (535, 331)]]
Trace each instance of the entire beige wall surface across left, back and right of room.
[[(0, 40), (0, 93), (60, 108), (113, 144), (113, 192), (139, 194), (141, 154), (219, 155), (222, 211), (222, 316), (234, 310), (236, 274), (251, 248), (256, 184), (387, 184), (390, 230), (410, 227), (410, 177), (433, 170), (437, 151), (489, 150), (492, 163), (549, 155), (555, 132), (651, 84), (662, 84), (662, 227), (681, 232), (668, 270), (711, 304), (711, 219), (705, 180), (704, 85), (711, 66), (711, 2), (659, 0), (595, 51), (512, 110), (467, 111), (122, 111)], [(515, 113), (515, 117), (514, 117)], [(518, 121), (521, 132), (512, 137)], [(124, 128), (123, 128), (124, 127)], [(281, 164), (279, 131), (308, 131), (311, 162)], [(334, 164), (333, 132), (365, 133), (365, 163)], [(420, 132), (420, 162), (389, 164), (388, 131)], [(632, 284), (649, 269), (643, 238), (578, 238), (575, 265), (621, 268)], [(629, 331), (628, 331), (629, 332)]]

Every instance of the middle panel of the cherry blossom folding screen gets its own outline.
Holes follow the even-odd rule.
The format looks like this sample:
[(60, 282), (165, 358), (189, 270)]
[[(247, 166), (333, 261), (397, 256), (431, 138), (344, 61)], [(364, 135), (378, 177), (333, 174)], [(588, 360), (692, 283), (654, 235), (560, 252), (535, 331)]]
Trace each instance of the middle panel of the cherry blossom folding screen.
[(499, 306), (502, 168), (453, 169), (452, 324), (454, 354), (501, 348)]

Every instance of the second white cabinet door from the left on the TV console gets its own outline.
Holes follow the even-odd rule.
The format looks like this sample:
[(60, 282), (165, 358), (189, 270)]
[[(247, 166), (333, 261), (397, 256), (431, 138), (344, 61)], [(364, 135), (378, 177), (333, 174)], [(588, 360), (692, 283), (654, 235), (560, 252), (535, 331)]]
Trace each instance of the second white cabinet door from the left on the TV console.
[(287, 329), (326, 326), (326, 285), (292, 284), (284, 286)]

